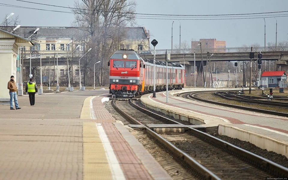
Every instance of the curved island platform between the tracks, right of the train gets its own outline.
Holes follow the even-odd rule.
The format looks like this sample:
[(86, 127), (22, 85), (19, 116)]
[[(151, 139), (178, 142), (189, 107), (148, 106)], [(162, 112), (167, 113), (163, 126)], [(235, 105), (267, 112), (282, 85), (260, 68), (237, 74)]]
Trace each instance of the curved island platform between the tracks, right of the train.
[(166, 91), (158, 92), (156, 98), (148, 94), (143, 95), (141, 101), (150, 109), (161, 111), (175, 119), (185, 120), (194, 125), (201, 125), (206, 128), (206, 132), (217, 131), (220, 135), (250, 142), (288, 158), (287, 117), (223, 107), (176, 96), (179, 93), (199, 90), (208, 91), (217, 90), (217, 88), (184, 88), (169, 91), (168, 102)]

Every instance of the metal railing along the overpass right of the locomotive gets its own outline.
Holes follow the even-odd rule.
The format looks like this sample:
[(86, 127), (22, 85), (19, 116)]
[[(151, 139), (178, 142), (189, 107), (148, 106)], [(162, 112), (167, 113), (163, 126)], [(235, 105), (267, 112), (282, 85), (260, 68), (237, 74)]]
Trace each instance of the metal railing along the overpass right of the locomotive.
[[(199, 47), (199, 46), (198, 46)], [(156, 54), (189, 54), (194, 53), (194, 49), (156, 49)], [(251, 47), (232, 47), (232, 48), (202, 48), (202, 54), (206, 54), (207, 52), (211, 53), (228, 53), (228, 52), (250, 52)], [(276, 51), (276, 46), (269, 46), (269, 47), (253, 47), (253, 52), (273, 52)], [(288, 51), (288, 46), (277, 46), (277, 51)], [(154, 54), (153, 51), (151, 51)], [(196, 54), (201, 53), (200, 47), (195, 49)]]

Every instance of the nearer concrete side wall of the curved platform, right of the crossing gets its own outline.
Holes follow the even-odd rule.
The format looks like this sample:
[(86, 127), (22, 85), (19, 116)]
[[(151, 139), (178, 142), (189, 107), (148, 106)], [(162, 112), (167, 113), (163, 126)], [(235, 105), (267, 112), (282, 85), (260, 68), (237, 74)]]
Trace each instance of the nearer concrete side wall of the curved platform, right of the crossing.
[(218, 125), (218, 134), (247, 141), (255, 146), (284, 155), (288, 158), (288, 144), (230, 125)]

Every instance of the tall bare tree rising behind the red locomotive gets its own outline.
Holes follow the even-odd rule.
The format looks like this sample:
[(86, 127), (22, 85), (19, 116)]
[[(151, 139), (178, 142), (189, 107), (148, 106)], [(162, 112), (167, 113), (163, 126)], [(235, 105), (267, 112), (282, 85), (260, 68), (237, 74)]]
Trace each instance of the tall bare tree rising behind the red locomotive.
[(101, 67), (97, 69), (101, 71), (101, 85), (109, 84), (109, 76), (104, 76), (104, 72), (109, 71), (106, 64), (124, 40), (123, 27), (134, 23), (136, 5), (136, 1), (128, 0), (74, 1), (76, 9), (71, 9), (75, 14), (74, 23), (87, 32), (86, 44), (92, 48), (81, 69), (86, 72), (88, 67), (94, 68), (94, 63), (101, 61)]

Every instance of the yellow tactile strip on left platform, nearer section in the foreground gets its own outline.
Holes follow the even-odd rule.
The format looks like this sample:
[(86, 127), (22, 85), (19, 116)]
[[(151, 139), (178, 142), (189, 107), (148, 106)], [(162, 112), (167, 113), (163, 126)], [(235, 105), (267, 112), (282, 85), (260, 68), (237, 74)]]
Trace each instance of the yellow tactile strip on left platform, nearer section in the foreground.
[(113, 179), (105, 149), (94, 122), (83, 122), (83, 180)]

